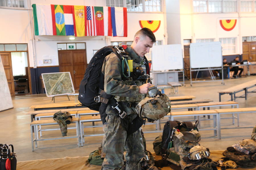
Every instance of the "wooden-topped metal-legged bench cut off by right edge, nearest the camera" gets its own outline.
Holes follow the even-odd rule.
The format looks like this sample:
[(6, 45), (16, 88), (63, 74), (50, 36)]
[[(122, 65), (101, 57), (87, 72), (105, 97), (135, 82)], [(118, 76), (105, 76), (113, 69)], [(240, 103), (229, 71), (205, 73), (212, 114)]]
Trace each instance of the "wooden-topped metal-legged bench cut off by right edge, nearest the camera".
[[(221, 139), (221, 129), (253, 128), (255, 126), (255, 125), (253, 125), (253, 126), (239, 126), (239, 116), (238, 116), (238, 114), (240, 114), (240, 113), (255, 113), (256, 112), (256, 107), (234, 108), (234, 109), (215, 109), (215, 111), (218, 112), (219, 139)], [(237, 114), (238, 126), (237, 127), (221, 128), (221, 124), (220, 124), (220, 115), (221, 114)]]

